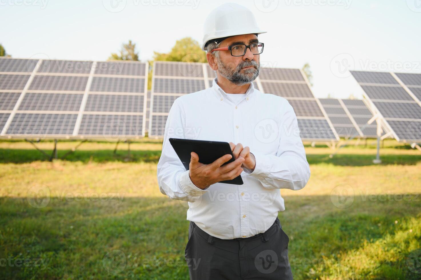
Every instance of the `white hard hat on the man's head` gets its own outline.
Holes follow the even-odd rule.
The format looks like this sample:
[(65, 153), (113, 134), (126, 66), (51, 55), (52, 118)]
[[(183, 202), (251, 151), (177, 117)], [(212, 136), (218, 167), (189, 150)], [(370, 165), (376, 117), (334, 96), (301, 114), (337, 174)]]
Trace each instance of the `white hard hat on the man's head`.
[(266, 33), (256, 23), (253, 13), (242, 5), (226, 3), (211, 11), (203, 27), (202, 49), (209, 40), (243, 34)]

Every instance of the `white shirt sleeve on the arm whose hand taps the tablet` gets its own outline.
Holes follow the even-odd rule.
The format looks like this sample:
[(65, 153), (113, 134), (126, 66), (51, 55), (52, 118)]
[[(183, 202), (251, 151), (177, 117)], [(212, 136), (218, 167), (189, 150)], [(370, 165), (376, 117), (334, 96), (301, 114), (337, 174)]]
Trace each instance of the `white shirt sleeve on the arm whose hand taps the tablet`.
[(264, 155), (251, 151), (256, 159), (250, 176), (258, 179), (266, 189), (304, 188), (310, 178), (310, 167), (306, 159), (303, 142), (301, 141), (298, 122), (293, 107), (285, 100), (281, 125), (279, 127), (280, 141), (276, 155)]

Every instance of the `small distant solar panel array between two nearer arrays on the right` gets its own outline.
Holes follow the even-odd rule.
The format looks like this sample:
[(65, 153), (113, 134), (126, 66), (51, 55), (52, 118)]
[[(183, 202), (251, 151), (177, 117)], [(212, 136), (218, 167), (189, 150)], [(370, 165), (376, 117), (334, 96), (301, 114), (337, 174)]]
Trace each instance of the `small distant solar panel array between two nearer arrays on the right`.
[(338, 136), (346, 139), (353, 136), (363, 138), (377, 137), (376, 122), (367, 125), (373, 117), (362, 100), (319, 99), (325, 108)]

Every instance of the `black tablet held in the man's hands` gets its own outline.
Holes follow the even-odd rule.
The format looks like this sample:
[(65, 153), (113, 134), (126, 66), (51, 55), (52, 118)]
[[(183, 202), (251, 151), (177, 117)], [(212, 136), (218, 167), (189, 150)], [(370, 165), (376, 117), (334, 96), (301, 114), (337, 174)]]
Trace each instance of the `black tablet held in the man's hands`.
[[(235, 160), (228, 142), (178, 138), (170, 138), (169, 140), (186, 170), (189, 170), (190, 158), (192, 157), (190, 155), (191, 152), (195, 152), (199, 156), (199, 162), (203, 164), (213, 163), (226, 154), (232, 157), (223, 165)], [(219, 181), (218, 183), (242, 185), (243, 181), (241, 175), (238, 175), (232, 180)]]

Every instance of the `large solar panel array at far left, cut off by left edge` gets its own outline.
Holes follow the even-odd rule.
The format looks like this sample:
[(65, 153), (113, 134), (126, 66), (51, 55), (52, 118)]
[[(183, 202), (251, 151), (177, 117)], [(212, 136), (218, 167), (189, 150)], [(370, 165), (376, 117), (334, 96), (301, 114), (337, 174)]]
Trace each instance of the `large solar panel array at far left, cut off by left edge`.
[(144, 136), (148, 64), (0, 58), (0, 136)]

